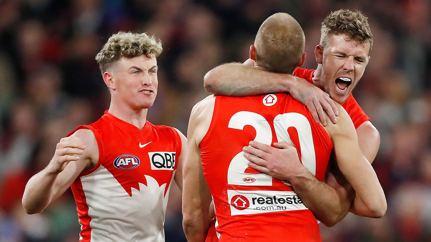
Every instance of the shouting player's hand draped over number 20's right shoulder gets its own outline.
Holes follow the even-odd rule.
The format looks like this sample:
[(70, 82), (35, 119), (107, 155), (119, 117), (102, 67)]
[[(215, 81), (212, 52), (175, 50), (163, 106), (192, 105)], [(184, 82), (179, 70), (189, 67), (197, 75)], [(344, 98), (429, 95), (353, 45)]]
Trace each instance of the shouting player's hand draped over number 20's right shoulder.
[(307, 106), (317, 123), (320, 122), (323, 126), (327, 125), (324, 114), (326, 112), (332, 123), (336, 124), (338, 110), (329, 94), (302, 78), (295, 78), (297, 83), (290, 89), (290, 95)]

